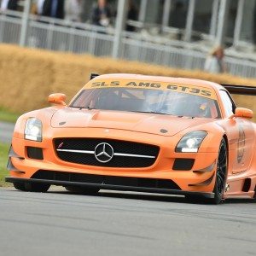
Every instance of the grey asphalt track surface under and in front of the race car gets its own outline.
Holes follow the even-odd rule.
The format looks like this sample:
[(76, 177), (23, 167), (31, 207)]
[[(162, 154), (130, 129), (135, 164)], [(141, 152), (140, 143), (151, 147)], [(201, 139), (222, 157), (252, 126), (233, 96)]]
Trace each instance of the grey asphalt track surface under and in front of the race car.
[(256, 255), (255, 213), (251, 200), (0, 188), (0, 255)]

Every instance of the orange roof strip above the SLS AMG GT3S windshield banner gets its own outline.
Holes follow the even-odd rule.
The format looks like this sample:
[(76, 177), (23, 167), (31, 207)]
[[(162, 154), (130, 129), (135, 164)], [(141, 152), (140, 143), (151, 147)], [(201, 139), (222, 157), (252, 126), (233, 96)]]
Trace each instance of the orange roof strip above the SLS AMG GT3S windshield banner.
[(214, 90), (220, 90), (224, 89), (223, 86), (220, 84), (210, 82), (207, 80), (201, 80), (201, 79), (187, 79), (187, 78), (173, 78), (173, 77), (162, 77), (162, 76), (148, 76), (148, 75), (142, 75), (142, 74), (131, 74), (131, 73), (111, 73), (111, 74), (103, 74), (97, 76), (95, 79), (136, 79), (136, 80), (147, 80), (152, 82), (169, 82), (169, 83), (175, 83), (175, 84), (188, 84), (188, 85), (198, 85), (203, 86), (207, 88), (212, 88)]

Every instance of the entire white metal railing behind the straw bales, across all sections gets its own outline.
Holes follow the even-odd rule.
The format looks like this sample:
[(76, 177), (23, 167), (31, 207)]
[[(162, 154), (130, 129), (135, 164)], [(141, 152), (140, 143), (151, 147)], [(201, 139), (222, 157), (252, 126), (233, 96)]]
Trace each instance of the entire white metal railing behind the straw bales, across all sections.
[[(21, 15), (11, 11), (0, 13), (0, 43), (19, 44)], [(160, 36), (154, 40), (153, 38), (145, 38), (140, 33), (123, 32), (119, 57), (168, 67), (203, 69), (206, 49), (200, 49), (200, 46), (194, 49), (192, 44), (184, 42), (178, 46), (177, 41), (166, 38), (157, 44), (154, 40), (160, 41)], [(112, 56), (113, 40), (113, 28), (68, 23), (65, 20), (38, 18), (34, 15), (30, 16), (26, 32), (28, 47), (98, 56)], [(227, 56), (225, 62), (231, 74), (247, 78), (256, 77), (254, 61)]]

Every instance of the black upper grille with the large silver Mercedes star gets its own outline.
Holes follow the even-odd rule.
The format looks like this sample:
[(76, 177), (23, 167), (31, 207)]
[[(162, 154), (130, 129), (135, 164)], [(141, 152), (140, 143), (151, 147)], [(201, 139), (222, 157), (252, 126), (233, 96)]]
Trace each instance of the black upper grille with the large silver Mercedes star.
[[(101, 143), (108, 143), (113, 148), (113, 158), (108, 162), (97, 160), (94, 154), (97, 145)], [(87, 166), (148, 167), (154, 164), (160, 151), (160, 148), (154, 145), (103, 138), (57, 138), (54, 144), (55, 152), (61, 160)]]

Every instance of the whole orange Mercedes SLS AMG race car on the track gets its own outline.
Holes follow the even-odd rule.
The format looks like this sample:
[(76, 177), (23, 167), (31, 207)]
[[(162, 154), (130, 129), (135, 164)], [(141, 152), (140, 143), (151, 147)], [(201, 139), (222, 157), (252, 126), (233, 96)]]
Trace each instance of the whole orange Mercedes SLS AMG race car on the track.
[[(240, 89), (255, 94), (253, 87)], [(17, 120), (6, 177), (16, 189), (45, 192), (55, 184), (83, 193), (154, 192), (215, 204), (255, 198), (253, 112), (236, 108), (224, 86), (108, 74), (90, 79), (68, 105), (65, 98), (50, 95), (54, 107)]]

